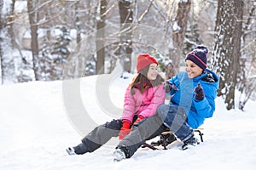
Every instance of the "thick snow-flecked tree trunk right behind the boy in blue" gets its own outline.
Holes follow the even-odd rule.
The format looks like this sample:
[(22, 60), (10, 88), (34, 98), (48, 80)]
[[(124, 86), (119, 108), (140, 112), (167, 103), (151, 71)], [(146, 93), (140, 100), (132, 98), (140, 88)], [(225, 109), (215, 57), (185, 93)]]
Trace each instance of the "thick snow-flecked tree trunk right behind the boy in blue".
[(218, 96), (228, 110), (235, 107), (235, 88), (240, 71), (242, 0), (218, 0), (213, 68), (219, 76)]

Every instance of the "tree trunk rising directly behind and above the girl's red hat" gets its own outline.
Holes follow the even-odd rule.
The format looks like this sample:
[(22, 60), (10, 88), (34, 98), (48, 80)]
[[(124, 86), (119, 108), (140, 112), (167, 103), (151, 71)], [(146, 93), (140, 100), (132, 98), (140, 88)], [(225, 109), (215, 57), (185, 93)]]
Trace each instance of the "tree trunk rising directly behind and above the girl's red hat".
[(124, 70), (131, 72), (131, 23), (133, 20), (132, 3), (130, 1), (119, 1), (120, 15), (120, 46), (119, 56), (122, 56), (121, 62), (124, 65)]

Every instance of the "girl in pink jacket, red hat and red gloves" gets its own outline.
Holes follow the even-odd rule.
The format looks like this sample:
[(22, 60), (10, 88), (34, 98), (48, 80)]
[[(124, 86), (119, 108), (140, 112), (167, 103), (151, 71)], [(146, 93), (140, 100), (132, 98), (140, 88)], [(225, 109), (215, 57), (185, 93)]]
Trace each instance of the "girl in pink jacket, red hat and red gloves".
[(137, 57), (137, 76), (125, 92), (123, 115), (118, 120), (106, 122), (87, 134), (82, 143), (69, 147), (69, 155), (81, 155), (93, 152), (108, 142), (112, 137), (124, 139), (131, 132), (131, 127), (143, 119), (154, 116), (157, 108), (165, 100), (165, 80), (158, 72), (158, 62), (149, 54), (139, 54)]

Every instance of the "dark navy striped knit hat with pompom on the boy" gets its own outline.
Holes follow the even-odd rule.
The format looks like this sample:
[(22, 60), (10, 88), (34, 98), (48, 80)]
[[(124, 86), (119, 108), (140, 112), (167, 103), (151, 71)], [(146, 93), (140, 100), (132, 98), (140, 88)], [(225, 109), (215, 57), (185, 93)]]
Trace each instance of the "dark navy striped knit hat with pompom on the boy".
[(207, 68), (207, 54), (208, 54), (208, 48), (205, 46), (197, 46), (193, 49), (193, 51), (189, 52), (187, 54), (186, 59), (191, 60), (195, 63), (195, 65), (198, 65), (203, 71)]

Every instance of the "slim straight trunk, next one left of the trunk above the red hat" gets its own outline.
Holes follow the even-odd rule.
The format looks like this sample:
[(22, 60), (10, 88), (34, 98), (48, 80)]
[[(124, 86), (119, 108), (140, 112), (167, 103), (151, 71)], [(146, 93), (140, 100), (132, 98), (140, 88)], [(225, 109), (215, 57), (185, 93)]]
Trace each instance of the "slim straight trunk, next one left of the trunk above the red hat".
[(96, 32), (96, 74), (103, 74), (105, 70), (104, 60), (105, 60), (105, 20), (106, 20), (106, 9), (107, 0), (101, 0), (100, 2), (100, 19), (97, 20), (97, 32)]

